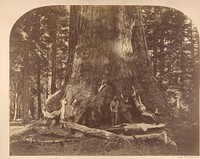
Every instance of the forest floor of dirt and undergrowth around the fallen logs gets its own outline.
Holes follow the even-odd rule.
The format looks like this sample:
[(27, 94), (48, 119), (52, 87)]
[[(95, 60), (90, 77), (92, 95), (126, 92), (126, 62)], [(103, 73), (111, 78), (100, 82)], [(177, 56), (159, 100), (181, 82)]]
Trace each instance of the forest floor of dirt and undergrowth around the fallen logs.
[[(78, 140), (68, 140), (59, 143), (37, 143), (37, 142), (12, 142), (10, 144), (10, 155), (199, 155), (198, 145), (198, 123), (194, 122), (191, 116), (185, 115), (178, 118), (160, 117), (160, 121), (165, 121), (168, 136), (177, 144), (178, 150), (169, 147), (158, 140), (133, 141), (124, 140), (108, 141), (95, 137), (80, 138)], [(23, 130), (25, 125), (20, 123), (10, 123), (10, 133), (17, 133)], [(34, 131), (25, 132), (25, 135), (34, 135), (37, 139), (45, 138), (52, 140), (61, 139), (58, 136), (42, 136)], [(10, 141), (19, 139), (21, 136), (11, 138)]]

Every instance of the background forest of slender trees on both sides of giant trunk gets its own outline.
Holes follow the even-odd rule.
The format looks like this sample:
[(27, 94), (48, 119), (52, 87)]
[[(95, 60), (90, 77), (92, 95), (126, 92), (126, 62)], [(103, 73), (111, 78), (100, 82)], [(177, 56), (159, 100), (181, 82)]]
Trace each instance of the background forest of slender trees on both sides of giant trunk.
[[(179, 124), (187, 129), (198, 121), (197, 28), (172, 8), (142, 6), (141, 11), (153, 76), (173, 117), (160, 120), (175, 122), (171, 131), (179, 134)], [(72, 60), (69, 34), (68, 6), (38, 8), (15, 23), (10, 34), (10, 120), (42, 118), (45, 101), (66, 85)]]

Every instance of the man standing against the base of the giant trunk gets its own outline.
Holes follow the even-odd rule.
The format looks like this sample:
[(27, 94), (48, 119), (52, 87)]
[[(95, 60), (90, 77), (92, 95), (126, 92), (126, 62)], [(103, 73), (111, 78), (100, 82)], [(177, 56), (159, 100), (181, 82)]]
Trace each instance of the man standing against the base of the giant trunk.
[(117, 125), (118, 122), (118, 107), (119, 101), (117, 100), (117, 97), (114, 96), (113, 100), (110, 103), (112, 126)]

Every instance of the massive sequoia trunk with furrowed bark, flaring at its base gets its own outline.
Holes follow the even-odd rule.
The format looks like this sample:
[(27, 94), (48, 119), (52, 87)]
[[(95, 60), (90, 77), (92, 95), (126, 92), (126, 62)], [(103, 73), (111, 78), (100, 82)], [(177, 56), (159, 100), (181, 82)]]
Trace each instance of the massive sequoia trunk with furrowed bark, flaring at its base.
[[(132, 86), (147, 109), (167, 107), (151, 73), (139, 6), (71, 6), (70, 19), (66, 118), (73, 114), (75, 122), (86, 125), (108, 121), (114, 95), (121, 105), (121, 96), (129, 97), (134, 107)], [(53, 111), (51, 105), (47, 111)]]

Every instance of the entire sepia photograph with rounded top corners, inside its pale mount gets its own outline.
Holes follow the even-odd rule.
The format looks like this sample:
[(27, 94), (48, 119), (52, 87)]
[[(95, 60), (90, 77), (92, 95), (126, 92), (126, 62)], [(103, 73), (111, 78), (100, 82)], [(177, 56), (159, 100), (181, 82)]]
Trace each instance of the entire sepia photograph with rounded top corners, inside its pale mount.
[(10, 156), (198, 156), (199, 33), (151, 5), (51, 5), (9, 37)]

